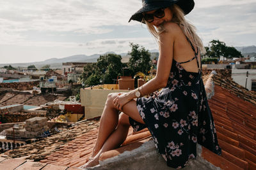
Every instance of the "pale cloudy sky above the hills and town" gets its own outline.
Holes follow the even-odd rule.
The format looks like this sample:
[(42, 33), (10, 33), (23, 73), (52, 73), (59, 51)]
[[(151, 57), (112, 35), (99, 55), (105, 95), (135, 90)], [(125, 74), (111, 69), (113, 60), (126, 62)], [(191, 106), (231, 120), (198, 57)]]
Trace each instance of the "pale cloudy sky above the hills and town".
[[(255, 0), (194, 0), (186, 15), (204, 45), (256, 45)], [(127, 53), (129, 43), (158, 49), (147, 27), (129, 18), (141, 0), (0, 0), (0, 64), (71, 55)]]

